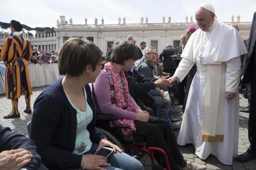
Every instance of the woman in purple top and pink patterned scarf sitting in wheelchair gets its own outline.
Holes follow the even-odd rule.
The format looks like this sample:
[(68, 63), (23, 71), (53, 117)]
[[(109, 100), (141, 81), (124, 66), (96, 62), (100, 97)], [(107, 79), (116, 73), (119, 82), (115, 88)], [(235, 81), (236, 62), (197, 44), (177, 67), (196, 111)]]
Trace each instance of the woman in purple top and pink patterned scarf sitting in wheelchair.
[[(145, 138), (149, 147), (162, 148), (168, 155), (172, 170), (205, 170), (205, 165), (184, 160), (167, 121), (149, 116), (130, 96), (123, 71), (129, 71), (137, 57), (138, 49), (133, 43), (123, 41), (115, 47), (110, 62), (105, 64), (93, 83), (99, 113), (114, 114), (118, 117), (117, 123), (131, 126), (137, 135)], [(127, 138), (130, 137), (129, 131), (122, 132)], [(161, 164), (162, 155), (155, 153), (155, 159)], [(166, 167), (163, 161), (162, 165)]]

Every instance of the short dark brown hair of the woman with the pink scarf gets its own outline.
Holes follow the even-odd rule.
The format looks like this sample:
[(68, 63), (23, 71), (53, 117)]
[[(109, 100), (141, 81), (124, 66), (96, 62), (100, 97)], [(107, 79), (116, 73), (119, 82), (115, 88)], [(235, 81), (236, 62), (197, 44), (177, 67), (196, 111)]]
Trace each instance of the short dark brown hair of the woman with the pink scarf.
[(126, 60), (137, 60), (139, 59), (139, 51), (136, 45), (129, 41), (120, 42), (113, 50), (110, 62), (124, 65)]

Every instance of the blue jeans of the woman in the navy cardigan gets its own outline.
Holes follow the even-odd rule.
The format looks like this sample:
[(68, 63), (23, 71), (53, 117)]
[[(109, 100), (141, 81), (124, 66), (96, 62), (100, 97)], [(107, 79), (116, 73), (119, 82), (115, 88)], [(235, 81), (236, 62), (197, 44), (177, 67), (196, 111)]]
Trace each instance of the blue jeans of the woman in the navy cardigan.
[[(94, 154), (96, 153), (96, 149), (98, 148), (99, 144), (93, 143), (91, 149), (86, 154)], [(102, 167), (106, 170), (144, 170), (143, 165), (140, 161), (133, 158), (132, 156), (127, 155), (126, 153), (122, 152), (111, 154), (108, 157), (108, 163), (111, 164), (110, 167)]]

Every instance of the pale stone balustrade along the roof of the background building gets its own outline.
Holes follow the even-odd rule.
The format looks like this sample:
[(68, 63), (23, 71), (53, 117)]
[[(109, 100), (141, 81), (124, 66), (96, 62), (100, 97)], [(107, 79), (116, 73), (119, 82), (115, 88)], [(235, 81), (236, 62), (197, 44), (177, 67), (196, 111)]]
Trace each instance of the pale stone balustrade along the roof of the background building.
[[(239, 26), (251, 26), (251, 22), (223, 22), (228, 25), (232, 25), (235, 23)], [(195, 26), (197, 27), (197, 23), (188, 23), (188, 22), (179, 22), (179, 23), (127, 23), (127, 24), (107, 24), (107, 25), (70, 25), (70, 24), (62, 24), (57, 25), (57, 29), (109, 29), (109, 28), (138, 28), (138, 27), (189, 27)]]

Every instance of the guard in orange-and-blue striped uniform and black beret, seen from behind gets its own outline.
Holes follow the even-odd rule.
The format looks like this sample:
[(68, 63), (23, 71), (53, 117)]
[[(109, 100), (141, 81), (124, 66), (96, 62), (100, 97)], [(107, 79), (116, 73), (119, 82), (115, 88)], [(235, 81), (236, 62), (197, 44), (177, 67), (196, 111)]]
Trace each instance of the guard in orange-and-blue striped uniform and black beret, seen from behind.
[(22, 25), (16, 20), (11, 20), (12, 37), (8, 37), (3, 44), (1, 51), (1, 60), (5, 62), (5, 86), (6, 98), (11, 99), (13, 110), (5, 119), (20, 117), (18, 111), (18, 100), (21, 95), (25, 96), (26, 109), (25, 113), (32, 113), (30, 107), (30, 96), (32, 89), (30, 85), (28, 61), (32, 57), (30, 42), (21, 34)]

